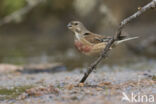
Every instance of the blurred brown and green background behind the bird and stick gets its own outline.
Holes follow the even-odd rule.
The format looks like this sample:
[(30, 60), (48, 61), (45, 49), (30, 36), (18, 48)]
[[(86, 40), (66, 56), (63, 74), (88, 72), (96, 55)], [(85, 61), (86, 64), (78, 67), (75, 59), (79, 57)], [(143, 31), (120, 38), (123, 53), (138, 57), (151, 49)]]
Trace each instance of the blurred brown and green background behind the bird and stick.
[[(0, 0), (0, 63), (16, 65), (61, 63), (68, 69), (86, 67), (96, 57), (75, 49), (66, 27), (82, 21), (92, 32), (114, 35), (119, 23), (151, 0)], [(156, 58), (156, 10), (128, 24), (124, 31), (137, 40), (110, 52), (103, 64), (147, 62)]]

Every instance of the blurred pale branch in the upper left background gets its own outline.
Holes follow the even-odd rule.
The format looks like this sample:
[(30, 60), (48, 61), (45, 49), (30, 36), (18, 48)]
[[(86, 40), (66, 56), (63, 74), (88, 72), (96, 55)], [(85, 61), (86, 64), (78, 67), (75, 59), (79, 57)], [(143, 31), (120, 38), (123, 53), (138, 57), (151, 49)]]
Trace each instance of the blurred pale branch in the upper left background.
[(27, 5), (0, 20), (0, 26), (10, 23), (12, 21), (20, 21), (23, 15), (27, 14), (29, 11), (31, 11), (34, 7), (36, 7), (39, 3), (43, 1), (44, 0), (26, 0)]

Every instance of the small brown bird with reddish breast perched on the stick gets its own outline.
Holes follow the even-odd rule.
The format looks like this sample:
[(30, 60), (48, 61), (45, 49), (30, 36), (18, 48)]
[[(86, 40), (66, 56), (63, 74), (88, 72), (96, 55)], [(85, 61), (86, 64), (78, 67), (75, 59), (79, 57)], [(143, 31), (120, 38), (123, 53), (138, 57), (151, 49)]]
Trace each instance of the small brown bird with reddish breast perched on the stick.
[[(98, 35), (93, 32), (90, 32), (80, 21), (71, 21), (69, 22), (67, 27), (75, 34), (75, 47), (85, 55), (99, 55), (106, 47), (109, 40), (112, 38), (110, 36)], [(138, 38), (126, 37), (127, 36), (121, 35), (119, 40), (115, 41), (110, 49), (122, 42)]]

